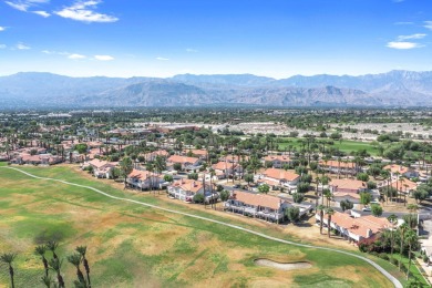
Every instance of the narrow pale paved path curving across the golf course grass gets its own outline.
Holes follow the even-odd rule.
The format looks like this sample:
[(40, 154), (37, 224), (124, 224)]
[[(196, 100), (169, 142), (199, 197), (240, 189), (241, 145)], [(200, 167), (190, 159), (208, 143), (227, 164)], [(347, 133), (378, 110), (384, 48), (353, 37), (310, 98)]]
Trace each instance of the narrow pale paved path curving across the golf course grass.
[(152, 205), (152, 204), (147, 204), (147, 203), (134, 200), (134, 199), (127, 199), (127, 198), (122, 198), (122, 197), (113, 196), (113, 195), (111, 195), (111, 194), (107, 194), (107, 193), (102, 192), (102, 191), (100, 191), (100, 189), (93, 188), (93, 187), (91, 187), (91, 186), (85, 186), (85, 185), (81, 185), (81, 184), (75, 184), (75, 183), (71, 183), (71, 182), (66, 182), (66, 181), (62, 181), (62, 179), (55, 179), (55, 178), (35, 176), (35, 175), (33, 175), (33, 174), (30, 174), (30, 173), (28, 173), (28, 172), (24, 172), (24, 171), (22, 171), (22, 169), (14, 168), (14, 167), (1, 167), (1, 168), (14, 169), (14, 171), (17, 171), (17, 172), (20, 172), (20, 173), (23, 173), (23, 174), (28, 175), (29, 177), (33, 177), (33, 178), (37, 178), (37, 179), (53, 181), (53, 182), (59, 182), (59, 183), (63, 183), (63, 184), (66, 184), (66, 185), (72, 185), (72, 186), (76, 186), (76, 187), (82, 187), (82, 188), (91, 189), (91, 191), (93, 191), (93, 192), (95, 192), (95, 193), (99, 193), (99, 194), (104, 195), (104, 196), (106, 196), (106, 197), (110, 197), (110, 198), (112, 198), (112, 199), (117, 199), (117, 200), (123, 200), (123, 202), (135, 203), (135, 204), (138, 204), (138, 205), (152, 207), (152, 208), (154, 208), (154, 209), (160, 209), (160, 210), (164, 210), (164, 212), (167, 212), (167, 213), (173, 213), (173, 214), (178, 214), (178, 215), (183, 215), (183, 216), (187, 216), (187, 217), (197, 218), (197, 219), (200, 219), (200, 220), (212, 222), (212, 223), (219, 224), (219, 225), (224, 225), (224, 226), (227, 226), (227, 227), (237, 229), (237, 230), (243, 230), (243, 232), (246, 232), (246, 233), (249, 233), (249, 234), (253, 234), (253, 235), (256, 235), (256, 236), (259, 236), (259, 237), (269, 239), (269, 240), (274, 240), (274, 241), (278, 241), (278, 243), (282, 243), (282, 244), (288, 244), (288, 245), (294, 245), (294, 246), (299, 246), (299, 247), (305, 247), (305, 248), (328, 250), (328, 251), (333, 251), (333, 253), (339, 253), (339, 254), (348, 255), (348, 256), (351, 256), (351, 257), (356, 257), (356, 258), (359, 258), (359, 259), (361, 259), (361, 260), (363, 260), (363, 261), (366, 261), (366, 263), (372, 265), (378, 271), (380, 271), (383, 276), (385, 276), (385, 277), (394, 285), (394, 287), (397, 287), (397, 288), (402, 288), (402, 287), (403, 287), (402, 284), (401, 284), (395, 277), (393, 277), (391, 274), (389, 274), (389, 272), (388, 272), (385, 269), (383, 269), (381, 266), (379, 266), (378, 264), (376, 264), (376, 263), (372, 261), (371, 259), (368, 259), (368, 258), (362, 257), (362, 256), (357, 255), (357, 254), (351, 254), (351, 253), (344, 251), (344, 250), (339, 250), (339, 249), (333, 249), (333, 248), (328, 248), (328, 247), (320, 247), (320, 246), (315, 246), (315, 245), (300, 244), (300, 243), (295, 243), (295, 241), (289, 241), (289, 240), (285, 240), (285, 239), (271, 237), (271, 236), (268, 236), (268, 235), (266, 235), (266, 234), (263, 234), (263, 233), (259, 233), (259, 232), (254, 232), (254, 230), (250, 230), (250, 229), (247, 229), (247, 228), (244, 228), (244, 227), (234, 225), (234, 224), (228, 224), (228, 223), (224, 223), (224, 222), (219, 222), (219, 220), (206, 218), (206, 217), (203, 217), (203, 216), (197, 216), (197, 215), (194, 215), (194, 214), (188, 214), (188, 213), (184, 213), (184, 212), (178, 212), (178, 210), (174, 210), (174, 209), (167, 209), (167, 208), (163, 208), (163, 207), (160, 207), (160, 206), (156, 206), (156, 205)]

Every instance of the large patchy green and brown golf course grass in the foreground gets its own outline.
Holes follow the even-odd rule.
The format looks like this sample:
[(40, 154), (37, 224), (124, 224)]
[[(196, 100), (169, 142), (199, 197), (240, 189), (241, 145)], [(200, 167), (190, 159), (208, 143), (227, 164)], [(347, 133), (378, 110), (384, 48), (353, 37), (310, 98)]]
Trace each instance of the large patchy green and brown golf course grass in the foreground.
[[(163, 199), (119, 191), (102, 181), (84, 178), (70, 167), (20, 167), (32, 174), (90, 185), (112, 195), (192, 212), (235, 223), (276, 237), (292, 237), (270, 227), (258, 227), (191, 210)], [(64, 258), (78, 245), (88, 245), (94, 287), (391, 287), (372, 266), (354, 257), (306, 249), (267, 240), (248, 233), (133, 203), (117, 202), (92, 191), (29, 178), (0, 169), (0, 253), (18, 253), (17, 287), (42, 287), (42, 264), (33, 255), (38, 241), (60, 239)], [(297, 239), (298, 240), (298, 239)], [(50, 257), (50, 255), (48, 254)], [(281, 271), (253, 264), (256, 258), (309, 261), (312, 268)], [(398, 275), (397, 269), (389, 268)], [(68, 287), (75, 269), (66, 260)], [(398, 275), (401, 276), (401, 275)], [(0, 287), (9, 281), (0, 267)]]

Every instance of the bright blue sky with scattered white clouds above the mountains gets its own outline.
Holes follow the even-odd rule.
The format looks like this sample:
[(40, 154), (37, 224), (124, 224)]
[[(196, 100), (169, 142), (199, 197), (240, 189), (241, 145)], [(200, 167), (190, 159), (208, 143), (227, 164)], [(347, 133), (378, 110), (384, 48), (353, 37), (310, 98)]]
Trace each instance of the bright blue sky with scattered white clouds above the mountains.
[(0, 75), (432, 70), (431, 0), (0, 0)]

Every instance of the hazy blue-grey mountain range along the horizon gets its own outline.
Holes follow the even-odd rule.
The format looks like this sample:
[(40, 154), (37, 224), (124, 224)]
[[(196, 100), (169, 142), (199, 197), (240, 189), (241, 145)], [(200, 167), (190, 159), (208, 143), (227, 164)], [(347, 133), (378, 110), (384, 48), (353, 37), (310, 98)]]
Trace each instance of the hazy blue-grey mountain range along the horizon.
[(124, 79), (20, 72), (0, 76), (0, 106), (6, 109), (208, 105), (432, 106), (432, 71), (280, 80), (251, 74)]

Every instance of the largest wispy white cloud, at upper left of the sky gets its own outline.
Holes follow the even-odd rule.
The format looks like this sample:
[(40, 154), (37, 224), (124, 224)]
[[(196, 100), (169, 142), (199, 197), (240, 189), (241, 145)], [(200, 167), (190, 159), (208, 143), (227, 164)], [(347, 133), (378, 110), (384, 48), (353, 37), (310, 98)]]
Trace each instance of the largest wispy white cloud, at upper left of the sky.
[(100, 0), (78, 1), (70, 7), (65, 7), (60, 11), (55, 11), (54, 13), (63, 18), (86, 23), (115, 22), (119, 20), (119, 18), (116, 17), (102, 14), (93, 11), (92, 9), (97, 8), (99, 3), (101, 3)]

